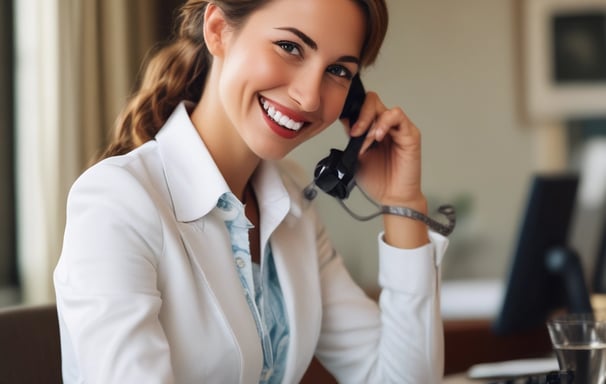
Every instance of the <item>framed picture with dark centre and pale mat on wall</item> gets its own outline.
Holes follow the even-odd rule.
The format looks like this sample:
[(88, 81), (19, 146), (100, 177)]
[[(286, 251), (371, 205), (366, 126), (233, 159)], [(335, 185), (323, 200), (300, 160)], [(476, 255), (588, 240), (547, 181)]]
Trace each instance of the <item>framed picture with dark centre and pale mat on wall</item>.
[(606, 117), (606, 0), (522, 0), (527, 117)]

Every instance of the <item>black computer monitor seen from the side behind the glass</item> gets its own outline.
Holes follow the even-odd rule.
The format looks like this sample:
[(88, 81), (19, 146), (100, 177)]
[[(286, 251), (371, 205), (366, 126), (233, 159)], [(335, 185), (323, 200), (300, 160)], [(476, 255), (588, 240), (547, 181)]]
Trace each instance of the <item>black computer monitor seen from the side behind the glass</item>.
[(495, 333), (544, 327), (558, 308), (586, 309), (589, 296), (580, 261), (568, 247), (578, 184), (576, 174), (533, 177)]

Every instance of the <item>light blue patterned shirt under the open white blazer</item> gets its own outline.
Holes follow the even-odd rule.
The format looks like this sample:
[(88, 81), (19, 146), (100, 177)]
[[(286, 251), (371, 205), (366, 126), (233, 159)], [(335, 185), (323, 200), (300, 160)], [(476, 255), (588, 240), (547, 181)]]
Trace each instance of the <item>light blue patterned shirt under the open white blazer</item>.
[(217, 208), (229, 231), (235, 267), (261, 339), (263, 370), (259, 383), (280, 383), (286, 368), (289, 326), (271, 246), (265, 247), (261, 266), (253, 263), (248, 242), (252, 224), (244, 205), (227, 192), (219, 198)]

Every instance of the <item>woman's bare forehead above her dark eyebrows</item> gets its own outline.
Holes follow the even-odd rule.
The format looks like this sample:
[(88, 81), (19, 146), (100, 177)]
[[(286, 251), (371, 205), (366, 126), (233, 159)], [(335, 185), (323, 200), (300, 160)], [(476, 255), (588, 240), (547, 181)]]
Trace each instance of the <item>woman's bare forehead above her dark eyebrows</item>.
[(318, 50), (338, 49), (358, 55), (366, 30), (364, 13), (353, 0), (273, 0), (253, 13), (247, 23), (254, 28), (296, 28), (318, 45)]

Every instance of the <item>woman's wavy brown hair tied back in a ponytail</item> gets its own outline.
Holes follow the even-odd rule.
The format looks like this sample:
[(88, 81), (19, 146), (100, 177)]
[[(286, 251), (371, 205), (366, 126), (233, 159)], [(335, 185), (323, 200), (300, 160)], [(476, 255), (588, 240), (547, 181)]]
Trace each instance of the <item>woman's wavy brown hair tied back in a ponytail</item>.
[[(179, 10), (171, 42), (151, 56), (139, 89), (120, 114), (114, 135), (102, 158), (120, 155), (153, 139), (175, 107), (183, 100), (197, 102), (204, 88), (211, 56), (204, 44), (204, 12), (215, 4), (232, 27), (272, 0), (189, 0)], [(367, 18), (361, 52), (362, 66), (374, 63), (387, 32), (384, 0), (353, 0)]]

